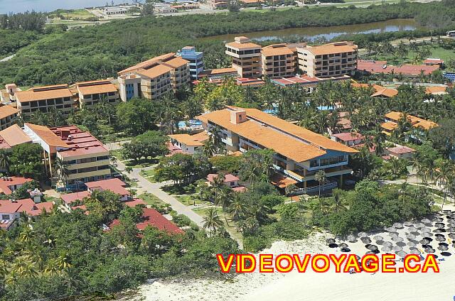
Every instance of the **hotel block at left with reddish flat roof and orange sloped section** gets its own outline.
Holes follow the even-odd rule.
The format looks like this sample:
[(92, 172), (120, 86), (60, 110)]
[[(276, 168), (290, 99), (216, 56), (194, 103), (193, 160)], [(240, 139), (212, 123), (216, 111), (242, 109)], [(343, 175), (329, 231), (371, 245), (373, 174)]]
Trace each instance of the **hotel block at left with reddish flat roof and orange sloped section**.
[(43, 148), (45, 168), (50, 177), (55, 178), (53, 163), (60, 158), (67, 165), (68, 184), (90, 182), (111, 177), (109, 151), (87, 131), (77, 126), (48, 128), (36, 124), (25, 124), (23, 131)]

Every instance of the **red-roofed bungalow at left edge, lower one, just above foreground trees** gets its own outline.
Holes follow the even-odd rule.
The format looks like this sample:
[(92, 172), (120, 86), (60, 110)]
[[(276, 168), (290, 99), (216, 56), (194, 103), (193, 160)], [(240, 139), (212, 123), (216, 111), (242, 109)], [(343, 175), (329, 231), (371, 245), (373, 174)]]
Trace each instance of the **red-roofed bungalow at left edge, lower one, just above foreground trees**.
[(45, 212), (50, 212), (53, 202), (43, 202), (35, 204), (32, 199), (1, 199), (0, 200), (0, 228), (8, 230), (19, 219), (21, 212), (29, 216), (36, 217)]

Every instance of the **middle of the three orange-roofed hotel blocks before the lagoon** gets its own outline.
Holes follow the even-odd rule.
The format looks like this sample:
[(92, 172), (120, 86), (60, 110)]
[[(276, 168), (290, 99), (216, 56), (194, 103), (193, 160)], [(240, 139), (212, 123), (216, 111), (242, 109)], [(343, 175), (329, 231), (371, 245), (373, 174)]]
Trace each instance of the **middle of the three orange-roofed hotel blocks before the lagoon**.
[(292, 77), (295, 75), (296, 56), (286, 44), (269, 45), (261, 51), (262, 76)]

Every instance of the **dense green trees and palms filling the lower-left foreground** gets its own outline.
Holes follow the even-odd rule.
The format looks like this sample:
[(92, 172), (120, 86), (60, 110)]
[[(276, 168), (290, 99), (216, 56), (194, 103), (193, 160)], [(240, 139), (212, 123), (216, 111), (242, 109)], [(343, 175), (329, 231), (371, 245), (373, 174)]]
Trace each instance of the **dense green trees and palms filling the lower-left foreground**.
[[(135, 288), (148, 278), (217, 275), (213, 253), (235, 253), (235, 242), (207, 238), (198, 227), (172, 236), (148, 227), (138, 235), (142, 210), (124, 207), (112, 192), (85, 199), (90, 214), (57, 207), (36, 219), (21, 215), (20, 226), (0, 232), (0, 299), (60, 299), (107, 295)], [(103, 225), (117, 218), (111, 231)], [(176, 218), (179, 226), (187, 219)]]

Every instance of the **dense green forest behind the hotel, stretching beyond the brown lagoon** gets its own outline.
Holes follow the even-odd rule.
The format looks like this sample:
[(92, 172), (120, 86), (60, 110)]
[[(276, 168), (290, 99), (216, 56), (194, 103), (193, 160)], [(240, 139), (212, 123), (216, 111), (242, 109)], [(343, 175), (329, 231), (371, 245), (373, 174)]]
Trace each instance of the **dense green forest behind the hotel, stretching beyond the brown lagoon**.
[(207, 16), (144, 17), (112, 21), (60, 33), (28, 46), (10, 62), (1, 63), (0, 82), (19, 85), (73, 83), (112, 77), (116, 72), (141, 60), (185, 45), (196, 45), (205, 52), (206, 67), (226, 65), (223, 41), (198, 40), (225, 33), (266, 31), (306, 26), (338, 26), (414, 18), (422, 11), (446, 10), (451, 19), (453, 1), (429, 4), (408, 3), (368, 8), (320, 7), (265, 13), (217, 14), (216, 22)]

